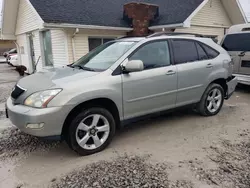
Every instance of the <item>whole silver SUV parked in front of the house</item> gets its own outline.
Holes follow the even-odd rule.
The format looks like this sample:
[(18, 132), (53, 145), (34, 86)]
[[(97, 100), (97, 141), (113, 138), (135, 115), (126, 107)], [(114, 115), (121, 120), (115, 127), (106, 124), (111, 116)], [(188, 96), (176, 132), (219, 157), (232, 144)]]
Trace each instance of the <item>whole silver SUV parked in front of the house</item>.
[(203, 37), (156, 33), (108, 42), (75, 63), (21, 79), (7, 115), (21, 131), (103, 150), (135, 118), (195, 105), (216, 115), (235, 90), (228, 53)]

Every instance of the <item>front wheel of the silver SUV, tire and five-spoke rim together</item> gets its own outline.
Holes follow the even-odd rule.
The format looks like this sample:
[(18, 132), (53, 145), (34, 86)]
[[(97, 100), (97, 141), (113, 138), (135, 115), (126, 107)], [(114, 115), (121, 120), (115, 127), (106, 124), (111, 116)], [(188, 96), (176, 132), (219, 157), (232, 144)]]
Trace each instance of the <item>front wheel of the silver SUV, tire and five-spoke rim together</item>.
[(89, 108), (79, 113), (68, 129), (68, 145), (80, 155), (104, 150), (115, 135), (115, 120), (104, 108)]

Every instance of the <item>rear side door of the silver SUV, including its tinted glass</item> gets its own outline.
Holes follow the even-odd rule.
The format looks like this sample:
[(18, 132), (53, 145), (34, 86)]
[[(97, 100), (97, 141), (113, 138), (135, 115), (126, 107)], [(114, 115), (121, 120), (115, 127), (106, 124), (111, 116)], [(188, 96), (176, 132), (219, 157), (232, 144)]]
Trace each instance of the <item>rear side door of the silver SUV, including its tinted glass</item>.
[(198, 41), (186, 39), (173, 39), (172, 48), (178, 72), (176, 106), (198, 102), (208, 85), (218, 53)]

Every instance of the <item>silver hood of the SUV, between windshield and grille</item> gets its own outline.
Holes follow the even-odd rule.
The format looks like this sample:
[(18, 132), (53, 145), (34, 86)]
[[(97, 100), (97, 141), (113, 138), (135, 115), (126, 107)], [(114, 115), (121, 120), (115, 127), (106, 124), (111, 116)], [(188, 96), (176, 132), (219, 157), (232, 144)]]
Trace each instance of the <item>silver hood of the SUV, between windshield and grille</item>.
[(82, 80), (97, 74), (99, 72), (84, 71), (78, 68), (53, 68), (24, 77), (18, 82), (18, 85), (27, 89), (30, 93), (50, 88), (63, 88), (64, 84), (70, 84), (70, 82)]

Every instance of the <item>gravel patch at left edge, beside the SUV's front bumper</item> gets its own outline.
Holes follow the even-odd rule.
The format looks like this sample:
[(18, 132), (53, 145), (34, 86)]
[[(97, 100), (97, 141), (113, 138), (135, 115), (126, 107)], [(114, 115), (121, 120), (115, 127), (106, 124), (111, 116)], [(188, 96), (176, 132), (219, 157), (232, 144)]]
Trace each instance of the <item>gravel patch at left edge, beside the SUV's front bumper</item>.
[(0, 160), (9, 159), (20, 154), (41, 150), (48, 151), (59, 142), (41, 140), (22, 133), (18, 129), (9, 128), (0, 132)]

